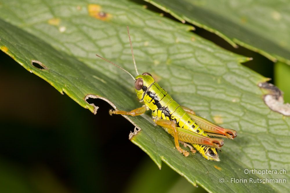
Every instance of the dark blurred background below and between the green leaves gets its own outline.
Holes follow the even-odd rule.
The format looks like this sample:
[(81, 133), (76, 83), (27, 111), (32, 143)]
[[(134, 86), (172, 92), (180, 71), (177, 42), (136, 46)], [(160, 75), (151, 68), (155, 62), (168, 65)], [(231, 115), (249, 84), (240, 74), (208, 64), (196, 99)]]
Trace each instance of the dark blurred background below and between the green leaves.
[[(275, 83), (267, 58), (198, 27), (195, 33), (254, 58), (244, 65)], [(93, 115), (8, 55), (0, 58), (0, 192), (206, 192), (165, 163), (159, 170), (128, 140), (134, 126), (110, 116), (103, 100), (93, 101)]]

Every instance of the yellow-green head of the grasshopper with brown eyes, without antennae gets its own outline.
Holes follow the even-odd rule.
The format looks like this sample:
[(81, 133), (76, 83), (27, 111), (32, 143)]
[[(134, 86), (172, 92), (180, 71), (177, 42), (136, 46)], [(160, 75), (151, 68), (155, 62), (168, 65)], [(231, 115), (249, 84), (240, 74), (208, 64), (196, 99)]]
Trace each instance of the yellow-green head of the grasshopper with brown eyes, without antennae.
[(142, 100), (144, 98), (144, 94), (148, 91), (148, 88), (154, 82), (154, 78), (148, 72), (144, 72), (142, 75), (138, 75), (135, 78), (135, 91), (139, 100)]

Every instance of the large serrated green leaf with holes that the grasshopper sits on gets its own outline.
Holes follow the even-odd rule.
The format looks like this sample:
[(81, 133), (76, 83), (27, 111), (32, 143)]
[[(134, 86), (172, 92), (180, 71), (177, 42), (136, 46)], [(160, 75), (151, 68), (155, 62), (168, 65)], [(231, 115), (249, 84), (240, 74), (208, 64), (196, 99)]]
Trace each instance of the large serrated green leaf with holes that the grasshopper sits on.
[[(126, 32), (129, 25), (139, 72), (152, 73), (181, 105), (238, 131), (236, 139), (225, 140), (220, 162), (207, 161), (198, 153), (182, 156), (174, 149), (173, 138), (153, 126), (148, 115), (124, 116), (142, 129), (131, 139), (133, 143), (159, 167), (164, 161), (209, 192), (289, 191), (286, 183), (249, 183), (249, 178), (265, 177), (289, 181), (289, 174), (244, 173), (253, 168), (290, 169), (289, 117), (264, 104), (257, 84), (267, 78), (240, 64), (247, 58), (134, 2), (92, 2), (1, 1), (1, 50), (94, 113), (97, 108), (85, 101), (88, 94), (128, 111), (142, 105), (133, 80), (95, 54), (135, 74)], [(45, 68), (33, 66), (32, 60)], [(219, 182), (221, 177), (224, 183)], [(231, 178), (248, 179), (248, 183), (231, 183)]]

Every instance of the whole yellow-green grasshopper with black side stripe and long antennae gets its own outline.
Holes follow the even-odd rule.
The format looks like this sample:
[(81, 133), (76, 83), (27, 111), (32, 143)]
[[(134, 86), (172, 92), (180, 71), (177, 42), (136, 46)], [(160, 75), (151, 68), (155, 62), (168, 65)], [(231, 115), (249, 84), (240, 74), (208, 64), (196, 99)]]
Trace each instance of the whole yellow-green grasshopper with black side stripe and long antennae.
[[(183, 144), (184, 147), (189, 147), (190, 151), (193, 153), (196, 152), (193, 149), (194, 147), (208, 160), (220, 161), (217, 150), (222, 147), (224, 141), (222, 139), (210, 138), (208, 135), (233, 139), (237, 136), (237, 132), (232, 129), (226, 129), (215, 125), (208, 120), (195, 115), (194, 111), (191, 109), (180, 106), (162, 87), (159, 86), (157, 82), (155, 82), (150, 73), (144, 72), (142, 75), (139, 75), (128, 26), (127, 31), (133, 62), (137, 73), (135, 78), (122, 67), (99, 55), (97, 56), (124, 70), (133, 78), (135, 81), (137, 97), (140, 101), (144, 102), (144, 105), (130, 112), (110, 110), (110, 115), (121, 114), (137, 116), (142, 115), (147, 110), (151, 109), (153, 121), (157, 125), (162, 126), (166, 132), (174, 137), (175, 148), (185, 157), (189, 156), (189, 152), (181, 148), (179, 142)], [(187, 143), (190, 143), (193, 147)]]

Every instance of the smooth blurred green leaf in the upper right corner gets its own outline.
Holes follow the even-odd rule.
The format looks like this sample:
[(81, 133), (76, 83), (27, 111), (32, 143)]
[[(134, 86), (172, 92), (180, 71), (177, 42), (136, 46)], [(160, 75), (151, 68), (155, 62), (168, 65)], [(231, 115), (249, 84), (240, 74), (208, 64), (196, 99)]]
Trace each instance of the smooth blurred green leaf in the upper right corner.
[(284, 1), (144, 0), (270, 60), (290, 65), (290, 4)]

